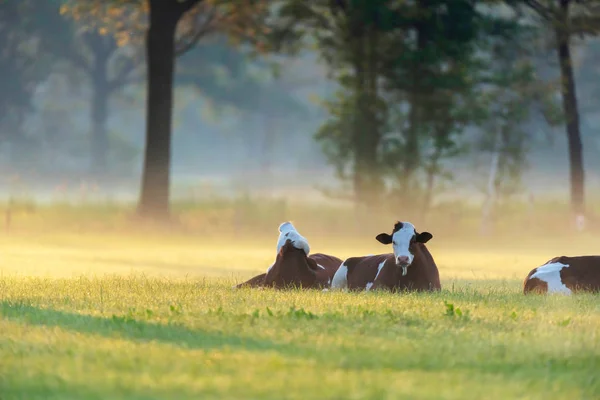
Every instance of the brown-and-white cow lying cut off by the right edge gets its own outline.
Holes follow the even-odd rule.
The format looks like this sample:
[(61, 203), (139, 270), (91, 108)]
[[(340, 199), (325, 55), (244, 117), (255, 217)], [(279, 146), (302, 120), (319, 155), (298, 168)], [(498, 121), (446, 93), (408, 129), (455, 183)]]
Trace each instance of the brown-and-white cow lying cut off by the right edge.
[(600, 291), (600, 256), (555, 257), (529, 272), (523, 294)]

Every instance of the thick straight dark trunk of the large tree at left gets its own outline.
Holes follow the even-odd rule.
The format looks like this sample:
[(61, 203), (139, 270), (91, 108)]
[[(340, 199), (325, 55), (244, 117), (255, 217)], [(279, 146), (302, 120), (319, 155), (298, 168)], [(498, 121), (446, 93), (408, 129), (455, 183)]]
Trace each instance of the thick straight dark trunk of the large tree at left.
[(171, 129), (175, 28), (181, 14), (164, 0), (150, 2), (150, 26), (146, 37), (148, 65), (146, 147), (138, 214), (167, 219), (170, 216)]

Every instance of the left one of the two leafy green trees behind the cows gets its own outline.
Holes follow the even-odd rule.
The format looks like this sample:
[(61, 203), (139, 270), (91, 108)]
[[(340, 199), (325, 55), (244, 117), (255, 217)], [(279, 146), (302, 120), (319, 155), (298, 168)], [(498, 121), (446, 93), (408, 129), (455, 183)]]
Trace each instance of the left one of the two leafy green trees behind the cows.
[(274, 29), (285, 45), (297, 46), (309, 36), (340, 83), (336, 99), (326, 104), (331, 119), (316, 138), (338, 175), (352, 181), (356, 205), (366, 208), (376, 207), (383, 193), (378, 149), (386, 109), (381, 78), (386, 54), (394, 54), (391, 32), (404, 22), (399, 3), (289, 0)]

